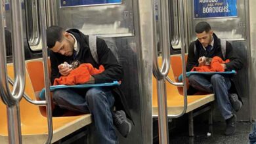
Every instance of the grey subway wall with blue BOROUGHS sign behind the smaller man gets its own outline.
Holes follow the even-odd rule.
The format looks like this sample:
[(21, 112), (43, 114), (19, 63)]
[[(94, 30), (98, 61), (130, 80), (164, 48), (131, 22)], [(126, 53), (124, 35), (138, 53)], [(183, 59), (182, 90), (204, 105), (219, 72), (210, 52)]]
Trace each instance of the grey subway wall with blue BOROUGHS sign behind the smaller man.
[[(244, 67), (235, 75), (234, 81), (244, 101), (242, 109), (236, 113), (238, 120), (249, 120), (251, 109), (248, 82), (248, 51), (249, 33), (248, 27), (248, 3), (243, 0), (218, 0), (213, 2), (189, 0), (186, 1), (187, 8), (187, 31), (188, 42), (196, 40), (194, 27), (198, 22), (208, 22), (213, 31), (221, 39), (229, 41), (234, 51), (242, 58)], [(251, 79), (251, 78), (250, 78)], [(217, 105), (214, 111), (215, 120), (223, 120)]]

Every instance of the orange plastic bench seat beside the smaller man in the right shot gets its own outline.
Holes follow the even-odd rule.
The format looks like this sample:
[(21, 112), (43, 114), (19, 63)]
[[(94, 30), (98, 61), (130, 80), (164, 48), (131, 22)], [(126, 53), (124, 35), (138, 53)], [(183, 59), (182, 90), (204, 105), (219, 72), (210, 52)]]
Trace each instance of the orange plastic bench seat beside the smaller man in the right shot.
[[(172, 65), (170, 67), (168, 77), (175, 81), (177, 80), (177, 77), (181, 74), (178, 69), (181, 69), (181, 60), (179, 62), (176, 61), (178, 58), (172, 58), (170, 57), (172, 62)], [(158, 63), (161, 63), (161, 57), (158, 57)], [(173, 74), (173, 67), (175, 68), (175, 72), (179, 73), (176, 76)], [(181, 71), (181, 70), (180, 70)], [(153, 99), (152, 99), (152, 107), (153, 115), (158, 115), (158, 95), (157, 95), (157, 86), (156, 86), (156, 79), (153, 76)], [(182, 89), (181, 89), (182, 90)], [(167, 91), (167, 111), (169, 115), (179, 114), (183, 110), (184, 107), (184, 97), (182, 96), (183, 92), (179, 92), (177, 86), (174, 86), (173, 84), (170, 84), (166, 81), (166, 91)], [(209, 103), (211, 101), (214, 101), (214, 94), (204, 94), (204, 95), (193, 95), (188, 96), (188, 107), (186, 109), (186, 113), (193, 111), (194, 109), (201, 107), (202, 105), (205, 105), (206, 103)]]

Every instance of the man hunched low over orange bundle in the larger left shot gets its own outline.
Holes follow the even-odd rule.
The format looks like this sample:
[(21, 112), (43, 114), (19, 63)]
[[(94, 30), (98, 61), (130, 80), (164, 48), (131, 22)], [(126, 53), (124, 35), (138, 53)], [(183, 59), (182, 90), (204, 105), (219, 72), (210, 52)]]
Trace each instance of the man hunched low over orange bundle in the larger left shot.
[[(91, 63), (98, 68), (103, 65), (105, 71), (98, 75), (91, 75), (87, 84), (121, 81), (123, 68), (116, 60), (112, 51), (103, 39), (96, 39), (96, 52), (98, 63), (95, 62), (90, 48), (89, 36), (77, 29), (64, 31), (62, 27), (51, 26), (47, 29), (47, 46), (50, 49), (51, 82), (60, 76), (67, 76), (73, 70), (63, 67), (62, 63), (72, 63), (78, 60), (80, 63)], [(125, 113), (131, 119), (125, 97), (118, 87), (95, 87), (87, 89), (62, 89), (54, 90), (53, 100), (58, 109), (68, 109), (93, 115), (92, 143), (117, 143), (117, 130), (124, 137), (131, 130), (131, 123), (126, 120)], [(113, 112), (113, 107), (123, 111)], [(54, 109), (56, 110), (56, 109)], [(125, 112), (124, 112), (125, 111)], [(54, 112), (53, 112), (54, 113)]]

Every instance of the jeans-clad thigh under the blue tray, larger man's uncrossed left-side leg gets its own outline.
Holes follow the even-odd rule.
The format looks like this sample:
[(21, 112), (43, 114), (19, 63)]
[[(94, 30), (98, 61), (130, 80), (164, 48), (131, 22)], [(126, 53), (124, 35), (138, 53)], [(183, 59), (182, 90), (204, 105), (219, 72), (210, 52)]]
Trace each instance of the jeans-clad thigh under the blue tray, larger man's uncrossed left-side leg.
[(62, 109), (78, 111), (81, 113), (90, 113), (84, 96), (76, 90), (64, 88), (53, 91), (53, 100), (56, 105)]

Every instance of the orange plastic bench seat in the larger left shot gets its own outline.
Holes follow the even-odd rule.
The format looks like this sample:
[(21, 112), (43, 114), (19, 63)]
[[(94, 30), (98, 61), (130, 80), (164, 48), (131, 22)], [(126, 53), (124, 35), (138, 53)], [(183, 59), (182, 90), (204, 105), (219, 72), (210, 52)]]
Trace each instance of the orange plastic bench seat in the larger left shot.
[[(13, 79), (13, 65), (8, 65), (8, 75)], [(43, 81), (37, 81), (39, 83)], [(30, 75), (26, 70), (25, 92), (30, 98), (35, 99), (34, 86), (30, 80)], [(6, 105), (0, 101), (0, 141), (8, 143), (7, 112)], [(20, 101), (20, 118), (23, 143), (45, 143), (47, 140), (47, 118), (41, 115), (39, 106), (33, 105), (22, 98)], [(53, 139), (52, 143), (58, 141), (68, 134), (72, 134), (83, 126), (92, 122), (91, 114), (72, 117), (53, 117)]]

